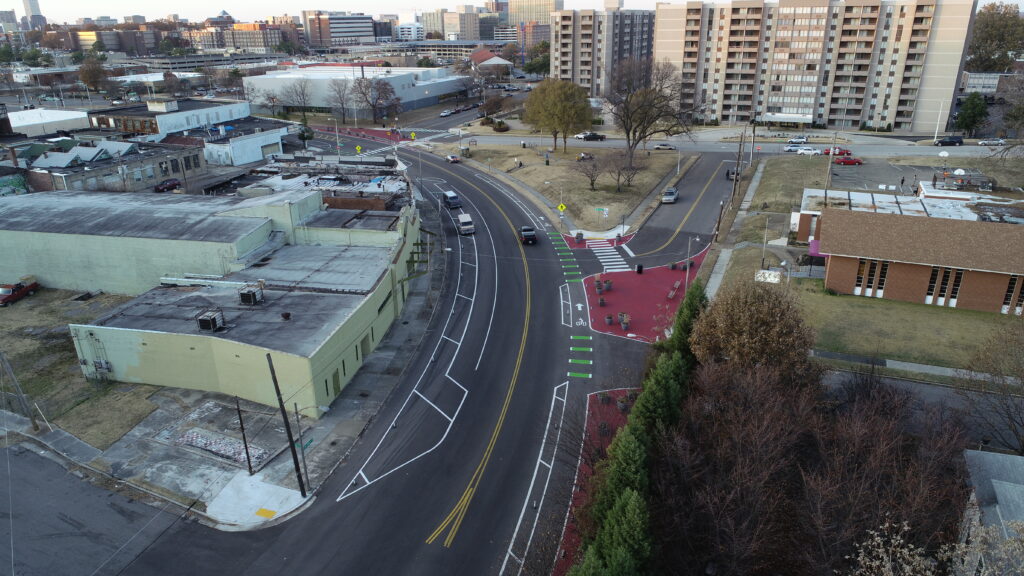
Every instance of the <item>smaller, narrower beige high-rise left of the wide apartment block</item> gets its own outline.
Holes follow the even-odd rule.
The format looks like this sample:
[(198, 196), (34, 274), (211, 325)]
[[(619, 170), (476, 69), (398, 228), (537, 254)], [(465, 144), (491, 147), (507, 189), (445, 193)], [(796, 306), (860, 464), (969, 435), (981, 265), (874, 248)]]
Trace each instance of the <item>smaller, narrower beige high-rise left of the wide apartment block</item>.
[(561, 10), (551, 14), (551, 77), (606, 95), (616, 63), (648, 58), (653, 10)]

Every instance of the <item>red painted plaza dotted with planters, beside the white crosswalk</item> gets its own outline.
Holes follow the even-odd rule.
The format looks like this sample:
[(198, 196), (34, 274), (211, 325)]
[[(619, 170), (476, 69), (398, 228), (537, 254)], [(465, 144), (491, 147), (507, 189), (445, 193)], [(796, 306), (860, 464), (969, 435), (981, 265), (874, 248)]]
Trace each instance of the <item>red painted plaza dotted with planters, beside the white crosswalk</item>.
[[(692, 258), (693, 265), (688, 272), (670, 270), (669, 266), (644, 269), (643, 274), (636, 272), (611, 272), (600, 276), (601, 280), (611, 281), (611, 290), (598, 294), (595, 289), (597, 276), (584, 279), (587, 290), (587, 304), (590, 307), (590, 327), (597, 332), (625, 336), (644, 342), (653, 342), (665, 338), (665, 331), (672, 326), (676, 310), (686, 295), (685, 286), (696, 278), (708, 251), (705, 250)], [(689, 279), (686, 280), (687, 273)], [(679, 282), (679, 288), (674, 288)], [(669, 292), (675, 290), (672, 298)], [(603, 297), (605, 305), (599, 305)], [(618, 313), (629, 315), (628, 330), (623, 330), (618, 323)], [(606, 324), (605, 317), (611, 315), (611, 324)]]

